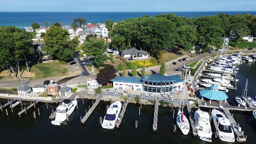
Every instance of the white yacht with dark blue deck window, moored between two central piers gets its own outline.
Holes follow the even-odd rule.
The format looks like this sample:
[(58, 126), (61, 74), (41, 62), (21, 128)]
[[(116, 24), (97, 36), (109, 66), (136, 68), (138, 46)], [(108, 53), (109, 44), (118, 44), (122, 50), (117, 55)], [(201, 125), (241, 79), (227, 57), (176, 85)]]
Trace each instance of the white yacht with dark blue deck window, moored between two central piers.
[(122, 103), (119, 101), (113, 102), (108, 108), (101, 124), (102, 128), (113, 129), (116, 126), (116, 121), (122, 109)]

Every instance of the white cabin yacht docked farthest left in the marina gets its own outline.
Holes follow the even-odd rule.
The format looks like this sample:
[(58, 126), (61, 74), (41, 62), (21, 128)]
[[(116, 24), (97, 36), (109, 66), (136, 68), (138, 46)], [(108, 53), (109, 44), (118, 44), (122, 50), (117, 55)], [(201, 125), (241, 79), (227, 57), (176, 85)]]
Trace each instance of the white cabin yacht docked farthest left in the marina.
[(60, 126), (68, 116), (77, 108), (76, 100), (63, 100), (62, 103), (56, 108), (55, 120), (52, 120), (53, 125)]

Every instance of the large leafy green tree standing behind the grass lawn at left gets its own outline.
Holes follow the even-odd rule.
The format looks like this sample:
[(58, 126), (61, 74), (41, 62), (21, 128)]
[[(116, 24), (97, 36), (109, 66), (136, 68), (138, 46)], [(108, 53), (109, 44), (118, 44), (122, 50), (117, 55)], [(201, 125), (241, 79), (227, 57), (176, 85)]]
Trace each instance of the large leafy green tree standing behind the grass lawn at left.
[(44, 36), (44, 52), (58, 60), (69, 60), (73, 56), (72, 48), (68, 45), (69, 33), (59, 26), (51, 26)]

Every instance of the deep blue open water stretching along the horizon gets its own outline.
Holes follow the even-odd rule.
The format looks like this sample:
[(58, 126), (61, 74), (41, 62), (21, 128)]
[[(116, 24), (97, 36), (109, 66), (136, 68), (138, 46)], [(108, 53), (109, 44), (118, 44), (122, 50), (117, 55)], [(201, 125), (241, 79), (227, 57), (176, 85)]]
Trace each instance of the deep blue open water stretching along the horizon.
[(0, 26), (17, 26), (28, 27), (32, 23), (37, 22), (41, 27), (44, 26), (44, 22), (47, 24), (51, 22), (53, 25), (55, 22), (71, 25), (74, 18), (85, 18), (87, 23), (97, 22), (104, 23), (105, 20), (126, 20), (129, 18), (139, 18), (144, 15), (150, 17), (158, 14), (173, 13), (176, 16), (185, 16), (187, 18), (198, 16), (218, 15), (219, 13), (225, 13), (230, 15), (249, 13), (250, 15), (256, 15), (254, 12), (0, 12)]

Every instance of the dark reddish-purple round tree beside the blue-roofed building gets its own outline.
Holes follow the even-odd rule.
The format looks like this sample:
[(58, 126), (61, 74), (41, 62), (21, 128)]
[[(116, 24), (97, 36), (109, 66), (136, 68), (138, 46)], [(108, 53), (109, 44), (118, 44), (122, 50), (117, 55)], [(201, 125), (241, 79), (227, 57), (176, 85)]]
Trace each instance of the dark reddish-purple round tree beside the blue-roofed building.
[(116, 70), (112, 65), (106, 65), (97, 74), (97, 80), (99, 84), (106, 85), (111, 82), (113, 78), (116, 78)]

